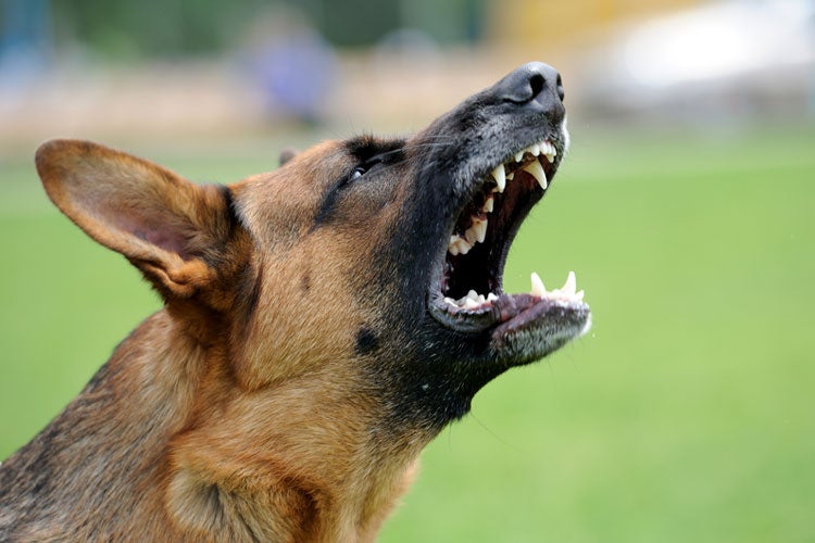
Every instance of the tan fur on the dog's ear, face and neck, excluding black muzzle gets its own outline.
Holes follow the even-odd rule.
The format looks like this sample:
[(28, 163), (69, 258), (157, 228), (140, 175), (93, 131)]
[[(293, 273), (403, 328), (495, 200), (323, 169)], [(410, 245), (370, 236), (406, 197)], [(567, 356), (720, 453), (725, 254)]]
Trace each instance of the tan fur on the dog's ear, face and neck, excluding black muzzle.
[[(212, 219), (226, 205), (213, 187), (99, 146), (43, 147), (38, 167), (54, 203), (139, 267), (167, 307), (116, 350), (104, 397), (91, 383), (62, 415), (75, 440), (51, 458), (64, 500), (97, 507), (95, 485), (120, 479), (105, 491), (114, 506), (98, 513), (102, 531), (53, 510), (21, 536), (133, 536), (138, 527), (145, 541), (374, 539), (429, 438), (379, 440), (376, 400), (355, 368), (355, 330), (375, 315), (358, 306), (354, 283), (366, 277), (371, 232), (389, 217), (306, 236), (322, 185), (344, 167), (337, 146), (233, 187), (247, 225), (231, 230)], [(166, 232), (178, 239), (153, 241)], [(223, 264), (193, 256), (208, 251)], [(239, 276), (258, 281), (249, 321), (230, 287)], [(334, 293), (319, 311), (302, 311), (304, 280)], [(78, 465), (85, 456), (93, 465)], [(92, 485), (78, 488), (75, 470), (93, 472)]]

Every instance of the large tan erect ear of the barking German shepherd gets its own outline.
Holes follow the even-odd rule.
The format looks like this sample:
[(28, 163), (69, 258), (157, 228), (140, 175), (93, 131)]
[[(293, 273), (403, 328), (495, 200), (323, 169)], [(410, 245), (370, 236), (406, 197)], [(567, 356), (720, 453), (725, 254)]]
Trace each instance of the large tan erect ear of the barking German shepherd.
[(195, 185), (87, 141), (48, 141), (36, 162), (53, 203), (124, 254), (165, 298), (191, 296), (217, 278), (237, 227), (226, 188)]

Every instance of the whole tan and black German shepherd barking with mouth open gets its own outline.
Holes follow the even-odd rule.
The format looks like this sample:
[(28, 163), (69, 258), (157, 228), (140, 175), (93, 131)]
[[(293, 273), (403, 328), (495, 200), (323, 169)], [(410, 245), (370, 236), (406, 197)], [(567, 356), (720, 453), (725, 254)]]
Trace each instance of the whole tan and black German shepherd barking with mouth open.
[(568, 146), (530, 63), (406, 139), (229, 186), (95, 143), (36, 165), (163, 310), (0, 468), (2, 541), (371, 541), (474, 394), (589, 326), (569, 275), (502, 290)]

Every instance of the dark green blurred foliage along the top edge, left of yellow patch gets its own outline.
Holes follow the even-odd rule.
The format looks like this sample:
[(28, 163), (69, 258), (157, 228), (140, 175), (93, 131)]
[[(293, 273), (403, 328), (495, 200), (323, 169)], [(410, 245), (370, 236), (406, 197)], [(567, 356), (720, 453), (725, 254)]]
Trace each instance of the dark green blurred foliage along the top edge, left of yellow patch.
[[(0, 0), (0, 7), (26, 1)], [(286, 4), (306, 13), (321, 35), (341, 47), (369, 46), (402, 28), (418, 29), (439, 42), (472, 41), (480, 38), (489, 0), (30, 1), (50, 7), (50, 21), (40, 18), (58, 46), (78, 42), (112, 58), (172, 58), (239, 45), (260, 14)], [(0, 31), (9, 34), (8, 26), (0, 25)]]

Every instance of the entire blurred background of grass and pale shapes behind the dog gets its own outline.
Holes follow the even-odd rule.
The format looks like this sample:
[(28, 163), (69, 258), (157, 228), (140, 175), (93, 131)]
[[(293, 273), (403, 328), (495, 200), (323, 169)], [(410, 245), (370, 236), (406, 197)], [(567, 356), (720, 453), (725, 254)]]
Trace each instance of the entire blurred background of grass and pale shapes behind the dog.
[(39, 142), (228, 182), (530, 60), (573, 146), (505, 288), (574, 269), (594, 327), (476, 396), (381, 541), (815, 541), (815, 0), (0, 0), (0, 458), (160, 307)]

